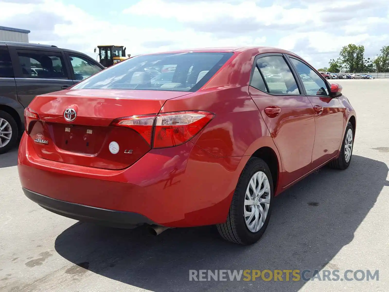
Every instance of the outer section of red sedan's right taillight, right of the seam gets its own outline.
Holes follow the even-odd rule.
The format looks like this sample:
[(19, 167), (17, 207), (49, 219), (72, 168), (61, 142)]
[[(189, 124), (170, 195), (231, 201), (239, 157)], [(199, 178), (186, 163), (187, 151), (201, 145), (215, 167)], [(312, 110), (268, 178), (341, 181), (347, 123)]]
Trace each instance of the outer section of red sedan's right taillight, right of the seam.
[(172, 147), (185, 143), (214, 118), (204, 111), (183, 111), (158, 114), (154, 129), (153, 148)]

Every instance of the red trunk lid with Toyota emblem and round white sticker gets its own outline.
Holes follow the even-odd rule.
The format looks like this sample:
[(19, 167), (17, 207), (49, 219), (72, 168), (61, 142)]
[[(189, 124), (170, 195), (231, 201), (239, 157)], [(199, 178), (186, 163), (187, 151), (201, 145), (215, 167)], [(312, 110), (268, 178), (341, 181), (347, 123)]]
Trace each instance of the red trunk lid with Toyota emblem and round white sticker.
[[(151, 146), (142, 133), (112, 126), (112, 121), (157, 114), (166, 100), (186, 94), (188, 92), (150, 90), (58, 91), (33, 100), (29, 108), (39, 115), (39, 120), (32, 121), (27, 130), (41, 158), (103, 169), (124, 169), (145, 155)], [(71, 110), (65, 113), (67, 109)]]

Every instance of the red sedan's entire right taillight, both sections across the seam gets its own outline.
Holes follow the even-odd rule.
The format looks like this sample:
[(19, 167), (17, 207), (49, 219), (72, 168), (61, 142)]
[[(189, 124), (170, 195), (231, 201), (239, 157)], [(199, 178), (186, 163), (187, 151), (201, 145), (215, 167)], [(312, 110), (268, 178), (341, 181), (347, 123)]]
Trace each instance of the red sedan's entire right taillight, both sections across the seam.
[(142, 135), (149, 144), (151, 144), (151, 135), (154, 133), (152, 148), (165, 148), (190, 140), (214, 116), (215, 114), (205, 111), (182, 111), (119, 118), (111, 125), (131, 128)]

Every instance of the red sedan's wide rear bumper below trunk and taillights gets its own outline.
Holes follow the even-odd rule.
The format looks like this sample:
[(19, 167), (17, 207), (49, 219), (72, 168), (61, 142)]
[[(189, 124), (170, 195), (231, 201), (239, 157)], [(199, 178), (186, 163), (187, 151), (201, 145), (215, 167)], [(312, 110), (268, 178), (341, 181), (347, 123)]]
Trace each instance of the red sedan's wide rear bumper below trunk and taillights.
[[(130, 212), (143, 216), (139, 218), (143, 222), (135, 224), (152, 222), (165, 227), (225, 222), (240, 172), (249, 159), (215, 157), (189, 141), (151, 150), (126, 169), (107, 170), (42, 159), (32, 143), (24, 134), (18, 154), (21, 186), (37, 193), (34, 198), (43, 195), (65, 202), (61, 206), (72, 206), (63, 210), (38, 201), (44, 208), (78, 220), (88, 218), (90, 212), (85, 214), (86, 209), (79, 206), (91, 207), (88, 210), (93, 212), (93, 208)], [(100, 222), (106, 219), (100, 212), (93, 214), (89, 217)], [(124, 222), (131, 224), (131, 220)]]

